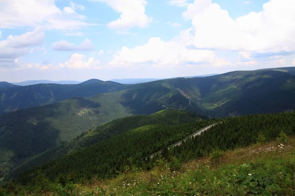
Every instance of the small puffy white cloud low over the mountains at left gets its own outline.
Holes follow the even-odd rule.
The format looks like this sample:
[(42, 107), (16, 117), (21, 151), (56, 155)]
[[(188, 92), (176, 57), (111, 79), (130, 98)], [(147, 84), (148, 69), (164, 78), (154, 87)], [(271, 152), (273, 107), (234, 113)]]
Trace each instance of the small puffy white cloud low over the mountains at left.
[(59, 64), (59, 67), (67, 67), (70, 69), (86, 69), (99, 64), (99, 61), (93, 57), (90, 57), (87, 61), (84, 61), (84, 59), (85, 55), (74, 53), (68, 62)]

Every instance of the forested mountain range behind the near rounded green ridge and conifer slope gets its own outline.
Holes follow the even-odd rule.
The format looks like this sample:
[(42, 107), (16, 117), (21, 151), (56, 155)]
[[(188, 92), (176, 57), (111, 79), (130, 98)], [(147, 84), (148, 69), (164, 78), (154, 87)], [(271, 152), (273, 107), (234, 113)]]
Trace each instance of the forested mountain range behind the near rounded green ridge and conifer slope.
[[(43, 153), (66, 145), (84, 131), (132, 115), (169, 108), (195, 112), (201, 119), (292, 111), (294, 74), (295, 68), (280, 68), (133, 85), (97, 79), (72, 85), (8, 85), (0, 89), (0, 171), (2, 176), (23, 171), (22, 167), (42, 162), (37, 157)], [(113, 136), (104, 132), (102, 138)]]

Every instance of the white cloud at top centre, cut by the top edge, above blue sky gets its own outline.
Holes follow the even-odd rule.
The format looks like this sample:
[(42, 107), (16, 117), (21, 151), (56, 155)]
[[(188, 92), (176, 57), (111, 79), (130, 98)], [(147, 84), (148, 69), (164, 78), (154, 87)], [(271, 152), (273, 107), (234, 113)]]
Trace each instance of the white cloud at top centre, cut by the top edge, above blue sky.
[(145, 14), (145, 0), (91, 0), (106, 2), (115, 11), (121, 13), (120, 18), (108, 24), (113, 30), (128, 30), (134, 26), (146, 27), (152, 22), (152, 18)]

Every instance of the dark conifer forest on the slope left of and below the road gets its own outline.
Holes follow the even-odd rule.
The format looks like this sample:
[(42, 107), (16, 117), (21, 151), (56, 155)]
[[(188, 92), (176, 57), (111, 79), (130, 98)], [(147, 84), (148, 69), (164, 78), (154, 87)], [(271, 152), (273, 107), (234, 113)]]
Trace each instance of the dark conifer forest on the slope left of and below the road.
[(19, 180), (26, 184), (30, 183), (36, 170), (46, 173), (46, 176), (52, 181), (62, 176), (68, 176), (68, 180), (74, 182), (90, 180), (94, 175), (97, 175), (98, 178), (110, 178), (116, 176), (116, 171), (125, 171), (126, 166), (131, 163), (127, 162), (124, 165), (124, 160), (130, 157), (133, 159), (132, 165), (136, 168), (146, 169), (153, 161), (143, 161), (147, 156), (213, 122), (208, 120), (182, 125), (162, 123), (141, 126), (89, 147), (73, 151), (38, 169), (31, 169), (22, 174)]

